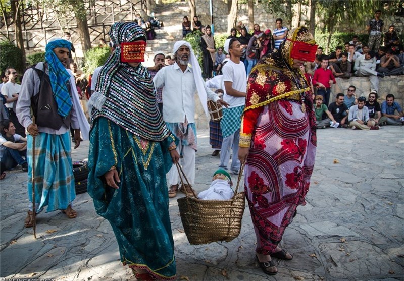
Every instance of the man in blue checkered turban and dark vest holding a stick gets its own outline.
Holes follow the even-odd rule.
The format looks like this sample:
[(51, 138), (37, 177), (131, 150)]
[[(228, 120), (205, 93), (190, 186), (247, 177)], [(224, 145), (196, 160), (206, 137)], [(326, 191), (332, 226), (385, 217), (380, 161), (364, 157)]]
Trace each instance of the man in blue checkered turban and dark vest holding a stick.
[[(16, 111), (18, 120), (29, 133), (27, 160), (30, 206), (25, 219), (27, 228), (34, 223), (33, 200), (36, 213), (47, 206), (46, 212), (62, 210), (69, 218), (77, 216), (72, 208), (76, 192), (70, 127), (74, 129), (75, 149), (80, 145), (80, 131), (86, 140), (89, 128), (81, 109), (74, 76), (66, 69), (70, 48), (71, 43), (64, 39), (49, 41), (45, 62), (28, 69), (21, 85)], [(35, 124), (31, 118), (31, 107)], [(35, 162), (32, 160), (33, 151)], [(33, 171), (35, 175), (32, 175)], [(33, 179), (35, 198), (32, 198)]]

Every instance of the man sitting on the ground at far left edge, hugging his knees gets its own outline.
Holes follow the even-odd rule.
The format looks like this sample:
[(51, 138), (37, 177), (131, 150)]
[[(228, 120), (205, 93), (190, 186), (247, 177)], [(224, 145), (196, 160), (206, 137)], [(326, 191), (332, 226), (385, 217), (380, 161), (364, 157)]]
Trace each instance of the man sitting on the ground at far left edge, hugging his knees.
[(16, 134), (16, 127), (8, 119), (0, 123), (0, 132), (1, 171), (21, 165), (22, 171), (27, 172), (27, 139)]

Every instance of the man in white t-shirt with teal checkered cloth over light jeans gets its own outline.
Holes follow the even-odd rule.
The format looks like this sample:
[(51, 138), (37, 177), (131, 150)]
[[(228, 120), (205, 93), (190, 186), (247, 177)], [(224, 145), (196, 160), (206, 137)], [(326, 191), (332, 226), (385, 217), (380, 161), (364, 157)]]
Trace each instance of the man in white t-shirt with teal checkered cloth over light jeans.
[(225, 51), (230, 54), (230, 61), (223, 67), (223, 100), (229, 104), (223, 108), (223, 118), (220, 121), (223, 142), (220, 154), (220, 165), (227, 169), (230, 160), (230, 150), (233, 147), (233, 159), (230, 173), (238, 174), (240, 161), (238, 160), (238, 141), (240, 138), (241, 114), (244, 109), (247, 94), (247, 75), (243, 62), (240, 61), (243, 48), (236, 38), (227, 39)]

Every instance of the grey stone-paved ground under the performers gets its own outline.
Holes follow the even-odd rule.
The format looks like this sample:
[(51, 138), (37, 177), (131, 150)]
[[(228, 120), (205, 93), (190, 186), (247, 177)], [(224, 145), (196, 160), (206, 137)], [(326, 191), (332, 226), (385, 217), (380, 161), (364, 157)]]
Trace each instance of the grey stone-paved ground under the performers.
[[(199, 132), (198, 142), (195, 189), (201, 191), (208, 188), (219, 158), (210, 155), (207, 130)], [(83, 143), (73, 159), (86, 158), (87, 149), (88, 142)], [(248, 208), (237, 239), (191, 246), (177, 201), (171, 199), (178, 279), (404, 280), (403, 151), (401, 126), (319, 130), (308, 204), (298, 208), (282, 241), (294, 258), (277, 261), (275, 276), (265, 275), (255, 263)], [(22, 172), (8, 173), (0, 182), (0, 277), (135, 280), (119, 262), (110, 224), (96, 215), (87, 193), (77, 196), (74, 220), (60, 212), (41, 213), (34, 240), (32, 229), (23, 227), (25, 182)]]

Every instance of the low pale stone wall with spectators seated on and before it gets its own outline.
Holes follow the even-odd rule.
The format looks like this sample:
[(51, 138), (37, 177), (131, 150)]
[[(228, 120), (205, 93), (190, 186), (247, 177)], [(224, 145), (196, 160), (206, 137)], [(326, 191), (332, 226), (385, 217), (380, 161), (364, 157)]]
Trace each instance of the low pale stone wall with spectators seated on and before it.
[[(336, 78), (337, 83), (331, 88), (330, 102), (335, 101), (338, 93), (346, 94), (346, 90), (350, 85), (354, 85), (357, 96), (365, 96), (368, 98), (370, 93), (370, 82), (367, 77), (352, 77), (350, 79)], [(386, 76), (380, 78), (379, 84), (379, 99), (378, 102), (382, 103), (386, 99), (387, 94), (393, 94), (395, 101), (397, 101), (402, 108), (404, 108), (404, 75), (400, 76)], [(199, 101), (199, 97), (195, 94), (195, 123), (197, 129), (209, 128), (209, 120), (204, 113), (204, 109)]]

